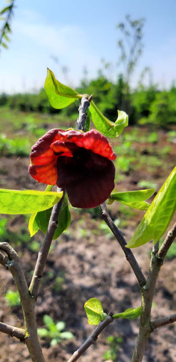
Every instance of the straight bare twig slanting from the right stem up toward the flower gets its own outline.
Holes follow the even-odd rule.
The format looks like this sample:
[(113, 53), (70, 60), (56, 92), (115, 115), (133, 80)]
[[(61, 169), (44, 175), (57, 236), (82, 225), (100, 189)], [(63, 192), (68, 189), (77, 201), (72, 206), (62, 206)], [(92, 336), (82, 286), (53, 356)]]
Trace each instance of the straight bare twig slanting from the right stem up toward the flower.
[(126, 260), (131, 265), (131, 268), (133, 269), (134, 274), (137, 277), (140, 287), (143, 287), (146, 284), (146, 278), (144, 277), (142, 270), (137, 260), (134, 257), (134, 254), (132, 253), (131, 249), (125, 247), (127, 245), (126, 240), (123, 237), (121, 231), (117, 228), (117, 226), (113, 223), (112, 219), (110, 218), (105, 202), (100, 205), (100, 208), (101, 208), (102, 219), (105, 221), (105, 223), (109, 226), (110, 230), (113, 232), (123, 252), (125, 253)]

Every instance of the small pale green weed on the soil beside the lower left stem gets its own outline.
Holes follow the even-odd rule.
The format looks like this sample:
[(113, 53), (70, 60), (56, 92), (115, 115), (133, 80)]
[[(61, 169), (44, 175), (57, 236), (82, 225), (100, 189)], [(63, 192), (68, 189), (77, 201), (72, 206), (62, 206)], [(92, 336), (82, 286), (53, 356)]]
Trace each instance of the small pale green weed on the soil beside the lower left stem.
[(38, 328), (38, 335), (41, 338), (49, 338), (51, 346), (55, 346), (60, 343), (62, 339), (74, 338), (74, 335), (71, 332), (61, 332), (66, 327), (66, 323), (64, 321), (54, 323), (53, 318), (49, 315), (44, 315), (43, 323), (47, 328)]

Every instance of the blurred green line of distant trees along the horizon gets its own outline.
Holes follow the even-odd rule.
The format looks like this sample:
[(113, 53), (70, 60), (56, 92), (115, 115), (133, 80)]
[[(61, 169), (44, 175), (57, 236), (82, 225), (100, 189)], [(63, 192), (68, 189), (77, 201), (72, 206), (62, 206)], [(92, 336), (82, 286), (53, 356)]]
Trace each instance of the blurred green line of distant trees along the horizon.
[[(99, 71), (94, 80), (83, 79), (77, 91), (81, 94), (93, 94), (95, 104), (107, 115), (111, 121), (117, 118), (117, 109), (128, 111), (131, 125), (148, 123), (166, 128), (169, 124), (176, 124), (176, 86), (173, 84), (169, 90), (159, 90), (157, 85), (138, 85), (133, 92), (125, 93), (126, 83), (122, 75), (117, 82), (112, 82)], [(125, 99), (125, 102), (124, 102)], [(126, 105), (127, 109), (124, 109)], [(49, 104), (44, 89), (38, 94), (5, 93), (0, 96), (0, 106), (19, 111), (35, 111), (42, 113), (62, 113), (67, 117), (76, 114), (78, 104), (72, 104), (66, 110), (55, 110)]]

